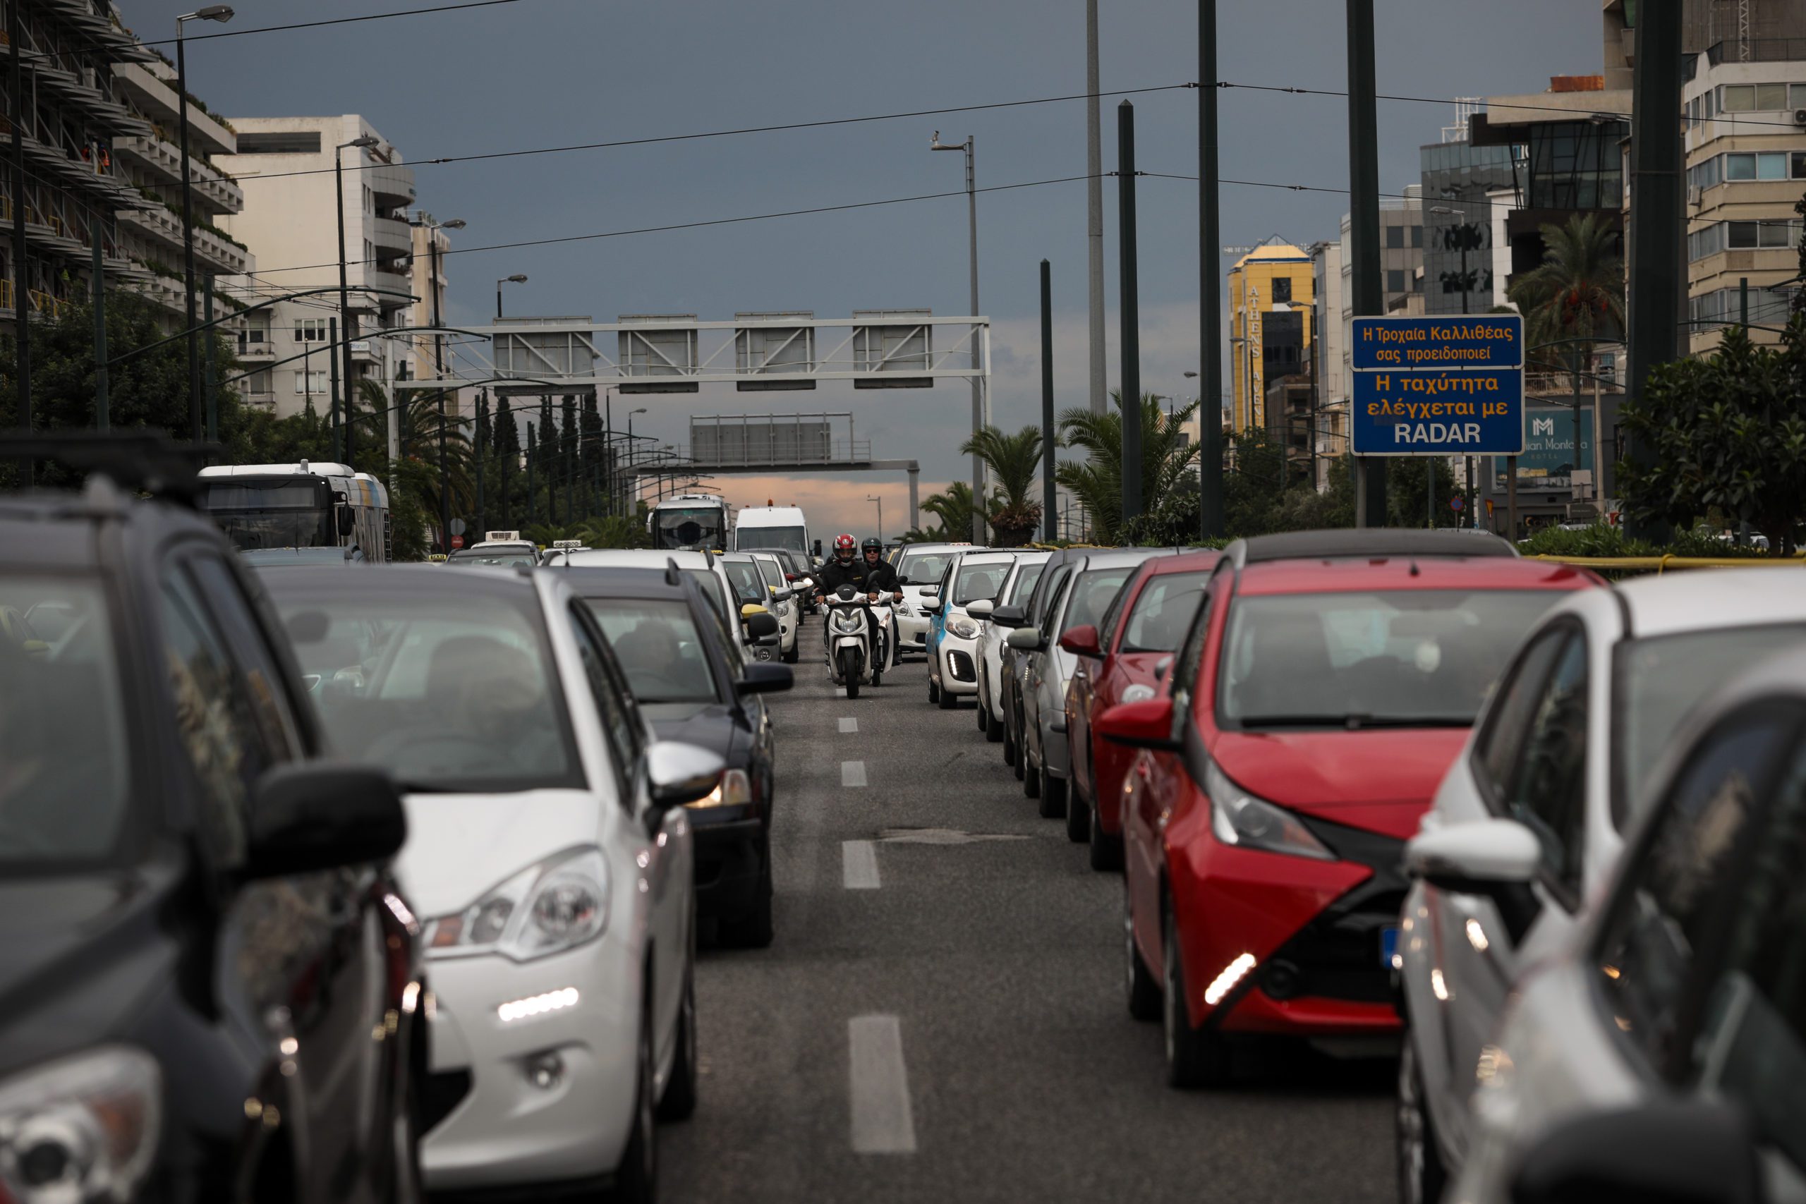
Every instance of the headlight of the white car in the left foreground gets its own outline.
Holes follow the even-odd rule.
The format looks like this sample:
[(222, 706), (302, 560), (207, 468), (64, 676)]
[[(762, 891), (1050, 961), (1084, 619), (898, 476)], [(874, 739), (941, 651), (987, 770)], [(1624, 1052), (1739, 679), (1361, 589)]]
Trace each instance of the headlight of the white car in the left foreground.
[(578, 848), (529, 865), (462, 912), (435, 919), (426, 953), (502, 953), (527, 962), (592, 940), (607, 926), (609, 863), (600, 848)]

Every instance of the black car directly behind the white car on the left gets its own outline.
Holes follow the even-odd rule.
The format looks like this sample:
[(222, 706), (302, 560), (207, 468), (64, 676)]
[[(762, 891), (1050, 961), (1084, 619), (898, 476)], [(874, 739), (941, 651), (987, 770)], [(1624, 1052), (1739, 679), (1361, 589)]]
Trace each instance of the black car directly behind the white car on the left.
[[(695, 901), (731, 944), (771, 944), (771, 715), (760, 693), (791, 688), (782, 664), (748, 661), (683, 572), (545, 569), (589, 603), (659, 740), (717, 753), (722, 785), (690, 803)], [(769, 616), (755, 616), (769, 621)]]

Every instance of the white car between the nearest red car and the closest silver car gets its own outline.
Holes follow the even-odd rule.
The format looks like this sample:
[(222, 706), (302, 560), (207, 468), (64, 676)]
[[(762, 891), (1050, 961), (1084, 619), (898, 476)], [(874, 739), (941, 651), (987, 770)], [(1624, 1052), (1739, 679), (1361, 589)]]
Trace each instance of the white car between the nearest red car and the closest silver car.
[(1524, 639), (1418, 839), (1521, 825), (1542, 850), (1537, 874), (1497, 897), (1416, 881), (1392, 953), (1407, 1020), (1398, 1067), (1407, 1204), (1436, 1200), (1465, 1159), (1476, 1067), (1512, 980), (1586, 917), (1687, 709), (1793, 639), (1806, 639), (1806, 587), (1772, 569), (1580, 590)]

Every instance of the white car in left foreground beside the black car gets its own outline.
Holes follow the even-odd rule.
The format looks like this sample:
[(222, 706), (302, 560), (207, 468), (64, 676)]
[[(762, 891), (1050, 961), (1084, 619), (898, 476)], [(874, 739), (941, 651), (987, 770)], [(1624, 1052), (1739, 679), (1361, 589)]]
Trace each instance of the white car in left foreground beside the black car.
[(426, 1188), (652, 1199), (654, 1116), (695, 1107), (686, 805), (719, 796), (721, 756), (656, 740), (556, 572), (338, 576), (269, 590), (303, 664), (359, 668), (316, 693), (334, 749), (405, 796)]

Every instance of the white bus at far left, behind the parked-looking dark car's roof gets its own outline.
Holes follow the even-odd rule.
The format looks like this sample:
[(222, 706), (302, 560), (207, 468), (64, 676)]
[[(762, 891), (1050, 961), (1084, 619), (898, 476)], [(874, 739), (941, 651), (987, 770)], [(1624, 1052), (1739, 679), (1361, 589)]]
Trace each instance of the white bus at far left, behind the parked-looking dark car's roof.
[(356, 547), (390, 558), (388, 489), (345, 464), (219, 464), (200, 469), (200, 505), (235, 547)]

